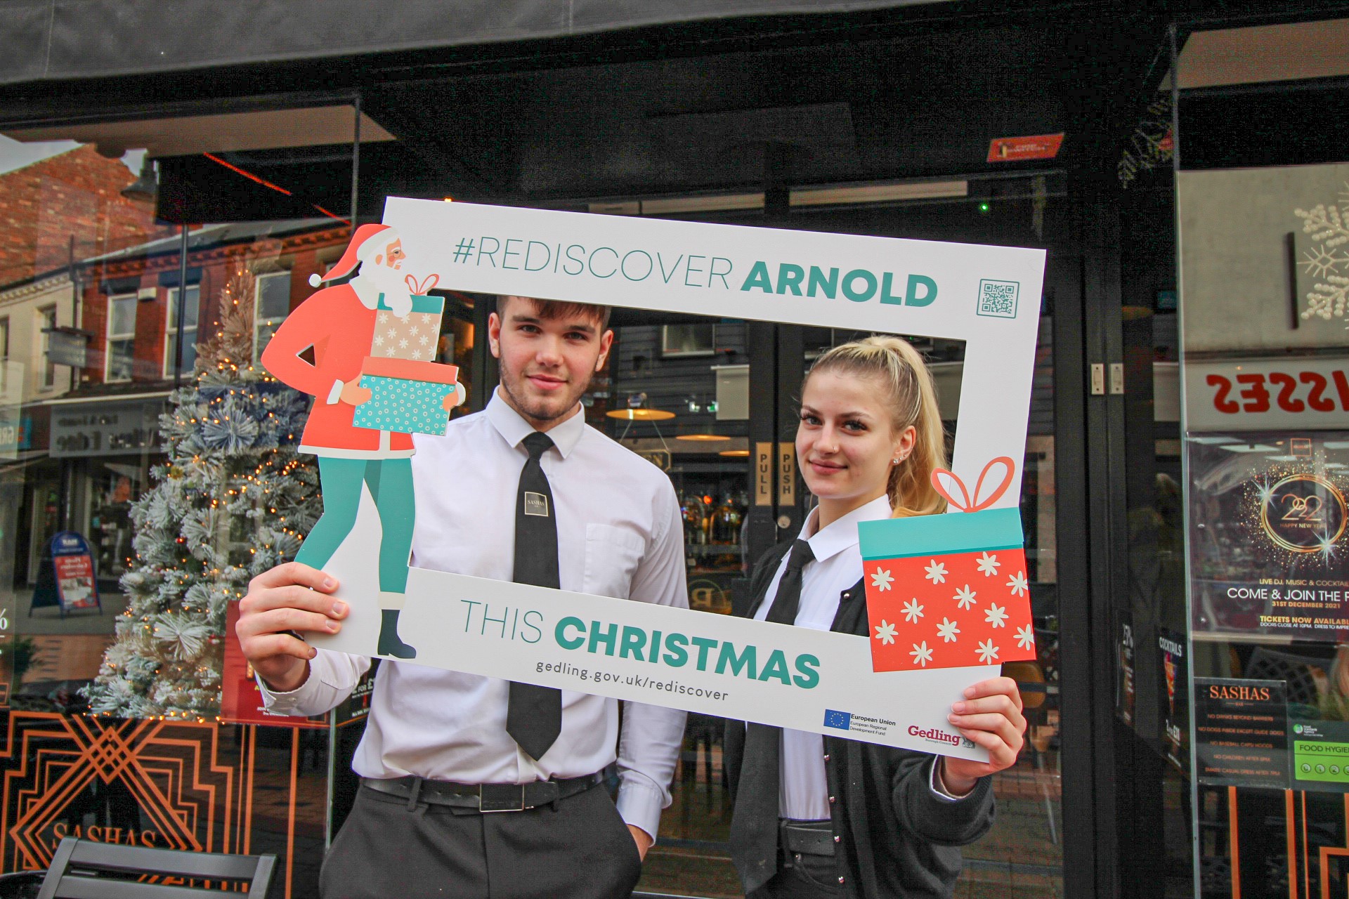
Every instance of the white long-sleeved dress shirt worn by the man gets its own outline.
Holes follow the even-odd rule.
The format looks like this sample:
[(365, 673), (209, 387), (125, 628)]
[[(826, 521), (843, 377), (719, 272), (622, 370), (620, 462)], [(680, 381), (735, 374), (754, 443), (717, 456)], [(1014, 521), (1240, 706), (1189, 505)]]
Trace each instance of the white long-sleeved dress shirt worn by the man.
[[(510, 581), (515, 493), (533, 427), (499, 395), (449, 423), (444, 437), (415, 435), (415, 567)], [(540, 464), (553, 493), (558, 581), (564, 590), (688, 608), (684, 530), (669, 478), (585, 425), (577, 410), (548, 431)], [(415, 640), (413, 640), (415, 643)], [(370, 669), (370, 659), (320, 650), (309, 678), (270, 693), (267, 708), (321, 714)], [(418, 775), (459, 783), (575, 778), (616, 759), (618, 811), (656, 836), (684, 739), (684, 712), (563, 690), (563, 729), (537, 762), (506, 733), (509, 682), (384, 659), (352, 768), (366, 778)]]

